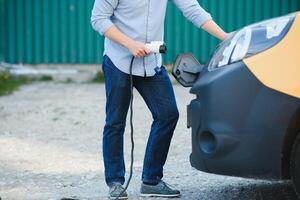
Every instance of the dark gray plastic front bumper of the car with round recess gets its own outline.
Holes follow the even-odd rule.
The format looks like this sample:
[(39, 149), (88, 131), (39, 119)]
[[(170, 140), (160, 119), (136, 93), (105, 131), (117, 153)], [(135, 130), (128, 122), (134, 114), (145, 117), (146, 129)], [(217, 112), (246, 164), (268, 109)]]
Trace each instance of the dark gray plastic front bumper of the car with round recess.
[(191, 89), (190, 162), (198, 170), (281, 178), (284, 134), (299, 100), (261, 84), (243, 62), (203, 73)]

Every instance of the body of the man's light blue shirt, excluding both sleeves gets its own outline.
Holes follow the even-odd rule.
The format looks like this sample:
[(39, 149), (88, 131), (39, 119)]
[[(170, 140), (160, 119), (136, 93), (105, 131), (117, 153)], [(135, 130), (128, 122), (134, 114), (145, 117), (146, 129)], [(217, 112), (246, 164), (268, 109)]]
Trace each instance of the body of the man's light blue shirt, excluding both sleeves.
[[(130, 38), (143, 43), (163, 41), (167, 0), (119, 0), (111, 17), (116, 27)], [(131, 53), (125, 47), (105, 39), (105, 52), (123, 72), (129, 72)], [(133, 75), (153, 76), (155, 68), (161, 67), (160, 54), (136, 58)]]

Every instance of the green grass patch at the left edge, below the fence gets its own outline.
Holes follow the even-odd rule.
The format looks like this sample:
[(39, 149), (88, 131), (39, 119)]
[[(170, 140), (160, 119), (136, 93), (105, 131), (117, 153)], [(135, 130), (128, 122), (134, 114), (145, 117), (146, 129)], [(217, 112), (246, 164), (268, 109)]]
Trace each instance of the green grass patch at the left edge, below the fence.
[(32, 83), (34, 81), (52, 81), (51, 76), (42, 76), (40, 78), (28, 78), (25, 76), (13, 76), (7, 71), (0, 71), (0, 96), (5, 96), (18, 90), (20, 86)]

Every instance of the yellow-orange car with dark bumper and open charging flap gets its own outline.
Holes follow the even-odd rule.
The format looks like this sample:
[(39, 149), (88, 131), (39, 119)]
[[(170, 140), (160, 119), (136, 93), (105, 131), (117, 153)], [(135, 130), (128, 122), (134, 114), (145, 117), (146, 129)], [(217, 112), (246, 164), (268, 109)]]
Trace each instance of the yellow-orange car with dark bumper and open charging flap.
[(234, 32), (206, 65), (180, 55), (172, 74), (196, 95), (187, 106), (193, 167), (292, 179), (300, 194), (300, 12)]

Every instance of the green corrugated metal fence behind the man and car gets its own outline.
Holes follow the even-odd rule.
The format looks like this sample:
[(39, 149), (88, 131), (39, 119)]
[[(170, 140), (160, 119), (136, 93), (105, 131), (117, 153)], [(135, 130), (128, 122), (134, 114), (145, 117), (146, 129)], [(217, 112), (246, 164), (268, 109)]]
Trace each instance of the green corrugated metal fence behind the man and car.
[[(300, 0), (199, 0), (231, 32), (244, 25), (300, 10)], [(93, 64), (102, 60), (103, 38), (90, 25), (94, 0), (0, 0), (0, 61), (25, 64)], [(202, 62), (218, 41), (193, 27), (169, 3), (165, 29), (172, 63), (192, 52)]]

